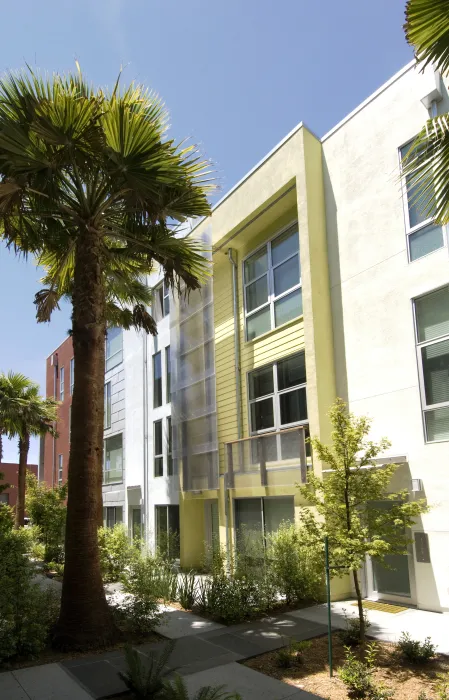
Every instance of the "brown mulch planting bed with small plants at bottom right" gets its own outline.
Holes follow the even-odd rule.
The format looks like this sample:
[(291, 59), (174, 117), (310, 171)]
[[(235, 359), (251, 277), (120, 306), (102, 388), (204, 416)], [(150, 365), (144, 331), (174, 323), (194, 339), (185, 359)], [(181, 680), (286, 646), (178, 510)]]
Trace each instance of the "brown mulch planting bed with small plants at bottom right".
[[(446, 696), (438, 694), (436, 687), (441, 680), (439, 676), (449, 674), (449, 657), (438, 654), (425, 665), (414, 665), (400, 657), (395, 644), (376, 642), (376, 647), (373, 681), (376, 685), (383, 685), (394, 691), (392, 695), (394, 700), (419, 700), (420, 693), (425, 693), (427, 700), (449, 698), (449, 694)], [(348, 694), (343, 681), (338, 677), (338, 670), (345, 660), (345, 648), (338, 633), (333, 635), (333, 651), (333, 678), (329, 677), (327, 637), (310, 640), (310, 646), (301, 654), (302, 660), (298, 662), (293, 658), (290, 668), (279, 666), (276, 651), (249, 659), (245, 665), (323, 698), (330, 698), (330, 700), (353, 698), (355, 696)], [(354, 653), (361, 652), (356, 649)]]

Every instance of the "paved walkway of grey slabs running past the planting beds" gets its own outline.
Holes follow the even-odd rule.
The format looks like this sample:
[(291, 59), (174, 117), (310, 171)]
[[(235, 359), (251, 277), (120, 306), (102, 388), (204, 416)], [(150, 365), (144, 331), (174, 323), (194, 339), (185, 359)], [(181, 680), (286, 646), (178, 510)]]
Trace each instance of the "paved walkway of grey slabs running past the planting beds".
[[(344, 613), (356, 614), (353, 601), (332, 604), (332, 624), (344, 627)], [(185, 677), (191, 693), (204, 685), (226, 685), (243, 700), (317, 700), (304, 690), (265, 676), (240, 661), (285, 646), (287, 639), (311, 639), (327, 631), (325, 605), (275, 615), (253, 623), (225, 627), (171, 607), (158, 632), (176, 639), (169, 668)], [(369, 634), (396, 641), (402, 631), (414, 639), (430, 636), (438, 651), (449, 653), (449, 615), (421, 610), (397, 614), (369, 610)], [(136, 647), (143, 658), (159, 653), (163, 642)], [(61, 663), (0, 673), (0, 698), (5, 700), (100, 700), (125, 692), (118, 675), (126, 669), (122, 650), (78, 657)]]

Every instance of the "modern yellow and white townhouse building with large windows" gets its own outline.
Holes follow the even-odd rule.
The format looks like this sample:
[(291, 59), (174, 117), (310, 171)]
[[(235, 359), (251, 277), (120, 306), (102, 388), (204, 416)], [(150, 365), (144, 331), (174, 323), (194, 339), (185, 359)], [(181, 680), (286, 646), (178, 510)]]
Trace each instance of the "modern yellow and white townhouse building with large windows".
[(306, 439), (330, 440), (341, 397), (390, 439), (392, 488), (430, 506), (407, 555), (366, 561), (364, 594), (449, 611), (447, 231), (401, 177), (448, 110), (446, 82), (412, 62), (324, 137), (299, 124), (187, 232), (211, 258), (203, 288), (173, 298), (148, 279), (157, 337), (108, 334), (107, 524), (150, 548), (174, 533), (190, 569), (209, 546), (231, 555), (242, 527), (297, 521), (297, 484), (325, 469)]

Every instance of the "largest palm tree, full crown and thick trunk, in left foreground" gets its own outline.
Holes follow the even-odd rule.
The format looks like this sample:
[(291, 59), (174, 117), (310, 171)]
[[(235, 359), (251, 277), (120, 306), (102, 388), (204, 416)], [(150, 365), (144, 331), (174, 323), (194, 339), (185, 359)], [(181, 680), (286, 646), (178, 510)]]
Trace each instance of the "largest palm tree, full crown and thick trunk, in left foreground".
[[(141, 280), (157, 264), (166, 284), (188, 291), (207, 265), (199, 243), (173, 226), (210, 213), (206, 164), (166, 131), (161, 102), (139, 86), (120, 91), (117, 81), (110, 93), (95, 91), (80, 72), (0, 80), (0, 231), (7, 245), (44, 256), (52, 270), (38, 314), (72, 280), (75, 384), (54, 639), (65, 648), (104, 645), (116, 634), (97, 542), (108, 275)], [(133, 314), (139, 325), (142, 314)]]

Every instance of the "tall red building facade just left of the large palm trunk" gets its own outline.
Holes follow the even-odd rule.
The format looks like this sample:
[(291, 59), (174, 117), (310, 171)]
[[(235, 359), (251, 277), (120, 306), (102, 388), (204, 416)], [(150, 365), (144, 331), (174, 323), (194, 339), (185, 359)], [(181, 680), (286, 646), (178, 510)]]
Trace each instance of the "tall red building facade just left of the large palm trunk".
[(46, 435), (41, 452), (40, 478), (49, 486), (67, 481), (70, 448), (70, 412), (73, 392), (73, 345), (68, 336), (46, 360), (47, 397), (59, 401), (56, 431), (58, 437)]

